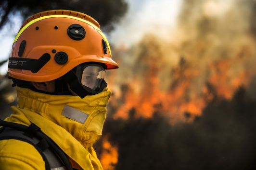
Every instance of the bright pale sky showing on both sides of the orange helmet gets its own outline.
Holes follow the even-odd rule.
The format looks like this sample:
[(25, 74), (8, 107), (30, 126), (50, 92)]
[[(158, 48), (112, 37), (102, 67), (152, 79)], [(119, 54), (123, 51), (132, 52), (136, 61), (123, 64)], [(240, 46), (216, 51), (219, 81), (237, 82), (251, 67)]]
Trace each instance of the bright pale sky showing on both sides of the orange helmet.
[[(165, 38), (165, 34), (168, 33), (164, 28), (175, 26), (182, 0), (127, 0), (127, 2), (126, 15), (116, 24), (115, 30), (107, 35), (110, 43), (115, 46), (129, 47), (147, 33), (156, 33)], [(0, 32), (0, 61), (9, 57), (15, 34), (23, 23), (18, 15), (12, 18), (14, 18), (13, 25), (4, 27)], [(0, 75), (6, 72), (7, 63), (0, 67)]]

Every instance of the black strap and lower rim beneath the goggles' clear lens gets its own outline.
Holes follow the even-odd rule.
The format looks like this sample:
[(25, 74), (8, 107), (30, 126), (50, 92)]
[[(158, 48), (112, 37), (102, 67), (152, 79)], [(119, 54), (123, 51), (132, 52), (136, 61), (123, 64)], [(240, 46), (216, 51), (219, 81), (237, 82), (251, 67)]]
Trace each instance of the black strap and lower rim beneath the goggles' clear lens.
[(105, 80), (102, 81), (101, 87), (94, 91), (89, 87), (86, 87), (78, 81), (77, 75), (71, 70), (63, 76), (63, 79), (69, 85), (69, 88), (75, 92), (80, 98), (84, 98), (88, 95), (94, 95), (100, 93), (105, 87), (107, 87), (107, 83)]

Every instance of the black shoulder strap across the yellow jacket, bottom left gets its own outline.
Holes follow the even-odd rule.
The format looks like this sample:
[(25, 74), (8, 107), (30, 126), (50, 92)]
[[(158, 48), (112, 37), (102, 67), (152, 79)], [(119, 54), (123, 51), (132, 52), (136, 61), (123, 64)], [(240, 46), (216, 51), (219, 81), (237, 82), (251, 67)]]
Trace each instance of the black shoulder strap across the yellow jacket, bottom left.
[(16, 139), (31, 144), (45, 161), (46, 170), (56, 168), (60, 170), (64, 166), (66, 170), (73, 170), (64, 152), (48, 136), (43, 134), (37, 125), (25, 126), (0, 120), (0, 126), (4, 126), (0, 130), (0, 140)]

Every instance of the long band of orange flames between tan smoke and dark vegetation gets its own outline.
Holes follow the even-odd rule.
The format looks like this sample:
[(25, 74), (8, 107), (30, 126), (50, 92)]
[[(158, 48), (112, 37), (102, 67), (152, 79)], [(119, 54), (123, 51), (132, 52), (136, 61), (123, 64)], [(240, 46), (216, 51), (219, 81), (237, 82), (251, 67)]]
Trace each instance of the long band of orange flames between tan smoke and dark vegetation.
[[(152, 61), (144, 63), (148, 68), (143, 70), (143, 75), (147, 75), (146, 79), (134, 76), (134, 79), (127, 83), (125, 90), (112, 99), (121, 101), (119, 105), (115, 105), (117, 111), (114, 118), (127, 119), (132, 109), (137, 117), (152, 117), (154, 113), (165, 113), (172, 118), (173, 123), (177, 120), (188, 120), (183, 113), (199, 116), (214, 96), (230, 99), (239, 86), (249, 83), (256, 70), (241, 68), (246, 62), (246, 58), (239, 57), (219, 59), (206, 63), (207, 70), (201, 70), (194, 67), (191, 61), (181, 57), (179, 65), (171, 70), (171, 82), (166, 91), (160, 88), (163, 80), (158, 74), (161, 73), (162, 66), (158, 66), (153, 58)], [(207, 72), (206, 78), (200, 77), (202, 71)], [(195, 84), (197, 79), (205, 79), (201, 88)], [(213, 89), (209, 89), (207, 83)]]

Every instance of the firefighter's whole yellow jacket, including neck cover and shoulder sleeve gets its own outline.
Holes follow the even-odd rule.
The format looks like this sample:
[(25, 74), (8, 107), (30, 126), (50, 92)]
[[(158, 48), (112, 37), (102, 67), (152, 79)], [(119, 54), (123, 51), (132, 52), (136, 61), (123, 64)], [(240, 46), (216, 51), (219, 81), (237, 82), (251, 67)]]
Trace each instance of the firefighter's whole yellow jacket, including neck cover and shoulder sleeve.
[[(102, 135), (110, 95), (107, 88), (81, 99), (17, 87), (18, 106), (11, 107), (13, 113), (5, 121), (23, 125), (34, 123), (66, 153), (73, 168), (102, 170), (92, 145)], [(79, 116), (84, 120), (77, 119)], [(44, 161), (32, 145), (14, 139), (0, 140), (0, 170), (44, 169)]]

